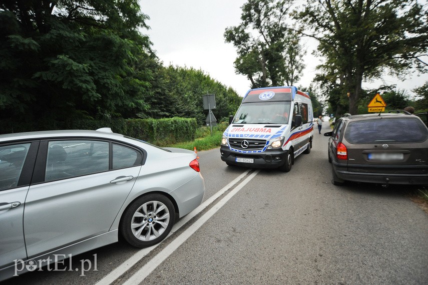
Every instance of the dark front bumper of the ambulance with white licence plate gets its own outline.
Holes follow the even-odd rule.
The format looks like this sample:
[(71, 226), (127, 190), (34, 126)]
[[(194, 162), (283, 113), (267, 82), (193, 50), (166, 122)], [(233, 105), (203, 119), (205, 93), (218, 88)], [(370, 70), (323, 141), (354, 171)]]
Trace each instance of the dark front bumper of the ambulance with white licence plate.
[(227, 146), (220, 147), (221, 160), (228, 165), (248, 168), (277, 168), (285, 163), (287, 152), (282, 149), (269, 149), (261, 153), (240, 153)]

